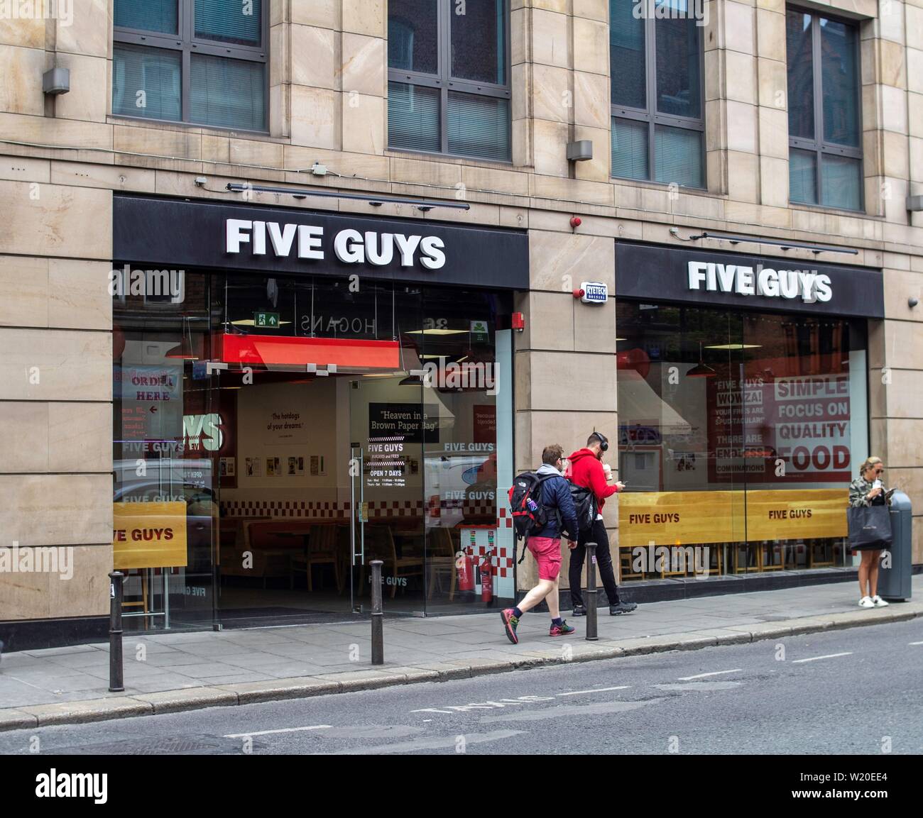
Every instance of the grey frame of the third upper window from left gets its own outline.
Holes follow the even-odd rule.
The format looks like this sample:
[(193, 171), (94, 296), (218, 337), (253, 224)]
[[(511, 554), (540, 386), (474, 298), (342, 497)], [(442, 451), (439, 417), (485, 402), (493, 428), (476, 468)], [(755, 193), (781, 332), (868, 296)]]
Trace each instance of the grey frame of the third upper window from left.
[[(689, 116), (677, 116), (673, 113), (658, 113), (657, 112), (657, 35), (655, 26), (657, 23), (656, 18), (653, 15), (653, 6), (655, 0), (645, 0), (645, 7), (648, 11), (648, 14), (644, 18), (644, 94), (645, 100), (647, 101), (647, 108), (632, 108), (627, 105), (615, 105), (612, 104), (610, 99), (610, 144), (611, 144), (611, 130), (614, 127), (612, 120), (615, 119), (631, 119), (635, 122), (647, 123), (647, 167), (648, 167), (648, 177), (647, 179), (637, 179), (633, 176), (617, 176), (614, 172), (610, 172), (610, 178), (612, 179), (624, 179), (629, 182), (646, 182), (650, 184), (672, 184), (669, 182), (659, 182), (654, 178), (655, 174), (655, 157), (654, 157), (654, 140), (656, 135), (657, 125), (665, 125), (666, 127), (674, 128), (684, 128), (689, 131), (699, 131), (702, 134), (701, 138), (701, 187), (700, 186), (691, 186), (688, 184), (680, 184), (680, 187), (684, 187), (687, 190), (707, 190), (708, 189), (708, 162), (707, 162), (707, 151), (705, 147), (705, 38), (703, 35), (703, 27), (696, 26), (695, 29), (698, 32), (698, 50), (699, 50), (699, 99), (701, 101), (701, 116), (699, 118), (689, 117)], [(611, 19), (609, 21), (611, 25)], [(610, 70), (611, 73), (611, 70)], [(612, 159), (612, 148), (609, 148), (610, 162)]]

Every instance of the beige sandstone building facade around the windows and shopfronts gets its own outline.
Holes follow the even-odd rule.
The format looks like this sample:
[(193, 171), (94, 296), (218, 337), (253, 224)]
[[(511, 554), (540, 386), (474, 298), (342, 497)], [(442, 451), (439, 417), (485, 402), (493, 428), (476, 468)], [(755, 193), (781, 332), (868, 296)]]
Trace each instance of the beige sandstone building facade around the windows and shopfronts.
[[(610, 62), (621, 46), (606, 0), (509, 0), (502, 9), (508, 42), (497, 48), (505, 49), (508, 75), (499, 85), (507, 96), (497, 93), (509, 100), (509, 160), (394, 147), (389, 89), (401, 66), (390, 47), (388, 0), (264, 4), (255, 4), (264, 14), (266, 64), (265, 127), (256, 130), (126, 115), (124, 100), (115, 113), (115, 74), (126, 60), (117, 56), (125, 42), (115, 24), (119, 0), (46, 3), (31, 16), (18, 15), (16, 2), (0, 4), (8, 12), (0, 17), (0, 544), (72, 547), (74, 555), (69, 582), (0, 573), (7, 630), (108, 611), (114, 396), (106, 283), (114, 198), (123, 194), (222, 203), (245, 196), (254, 207), (526, 231), (529, 288), (514, 296), (525, 324), (514, 336), (516, 471), (534, 467), (549, 442), (577, 448), (593, 429), (620, 439), (620, 243), (881, 273), (883, 315), (868, 323), (862, 422), (889, 485), (915, 505), (913, 562), (923, 563), (923, 305), (910, 305), (923, 299), (923, 210), (908, 209), (908, 197), (923, 194), (921, 0), (701, 4), (700, 187), (671, 183), (669, 168), (659, 182), (614, 175), (613, 84), (630, 71)], [(460, 7), (436, 6), (445, 15)], [(467, 6), (473, 13), (477, 4)], [(786, 9), (795, 8), (857, 32), (857, 209), (789, 200), (790, 152), (801, 149), (789, 129), (786, 61)], [(69, 69), (66, 93), (42, 91), (54, 67)], [(592, 144), (592, 159), (568, 159), (569, 143), (579, 140)], [(326, 175), (310, 172), (316, 163)], [(242, 195), (229, 183), (470, 208), (421, 213), (386, 201), (372, 211), (362, 199)], [(689, 241), (703, 232), (725, 238)], [(855, 253), (781, 250), (785, 242)], [(584, 280), (607, 285), (605, 304), (573, 297)], [(865, 454), (854, 452), (853, 465)], [(614, 451), (610, 462), (624, 474)], [(617, 504), (606, 506), (605, 519), (615, 544)], [(533, 582), (532, 564), (522, 564), (518, 587)]]

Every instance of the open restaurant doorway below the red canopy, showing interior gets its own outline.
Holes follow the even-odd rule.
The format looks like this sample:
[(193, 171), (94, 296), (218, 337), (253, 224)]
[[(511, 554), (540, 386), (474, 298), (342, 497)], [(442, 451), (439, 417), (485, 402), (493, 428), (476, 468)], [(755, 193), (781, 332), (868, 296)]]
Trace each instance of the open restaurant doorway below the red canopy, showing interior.
[(239, 464), (217, 496), (217, 621), (367, 611), (375, 559), (390, 611), (422, 614), (423, 429), (438, 413), (421, 378), (236, 364), (215, 380)]

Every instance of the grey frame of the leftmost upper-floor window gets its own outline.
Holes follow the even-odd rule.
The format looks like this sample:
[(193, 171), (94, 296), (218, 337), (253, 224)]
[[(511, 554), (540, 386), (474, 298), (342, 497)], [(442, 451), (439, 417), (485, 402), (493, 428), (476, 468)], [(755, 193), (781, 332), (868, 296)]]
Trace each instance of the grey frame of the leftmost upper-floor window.
[[(114, 0), (118, 3), (118, 0)], [(176, 34), (166, 34), (163, 31), (147, 31), (128, 29), (113, 25), (113, 46), (119, 43), (125, 45), (140, 45), (150, 48), (168, 49), (182, 52), (180, 64), (180, 119), (157, 119), (151, 116), (132, 116), (130, 113), (115, 113), (113, 116), (141, 122), (185, 124), (198, 128), (213, 128), (221, 131), (241, 131), (252, 134), (268, 134), (269, 129), (269, 101), (270, 101), (270, 60), (269, 26), (270, 26), (270, 0), (260, 3), (259, 45), (241, 45), (230, 42), (222, 43), (218, 40), (208, 40), (196, 37), (196, 0), (176, 0), (177, 3), (177, 29)], [(113, 7), (114, 15), (114, 7)], [(192, 105), (192, 54), (208, 54), (216, 57), (226, 57), (233, 60), (245, 60), (251, 63), (266, 65), (263, 71), (263, 123), (266, 127), (258, 130), (253, 128), (235, 128), (227, 125), (212, 125), (193, 122), (190, 118)], [(114, 68), (114, 66), (113, 66)]]

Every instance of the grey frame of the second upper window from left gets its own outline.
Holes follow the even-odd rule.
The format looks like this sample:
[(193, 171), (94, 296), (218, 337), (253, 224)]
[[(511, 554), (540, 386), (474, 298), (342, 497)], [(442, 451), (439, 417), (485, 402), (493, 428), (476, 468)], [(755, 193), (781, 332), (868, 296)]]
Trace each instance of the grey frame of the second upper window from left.
[[(504, 32), (503, 48), (505, 50), (503, 65), (505, 73), (505, 82), (500, 85), (493, 82), (477, 82), (472, 79), (460, 79), (451, 75), (451, 26), (450, 6), (454, 0), (436, 0), (436, 26), (437, 26), (437, 54), (436, 74), (425, 74), (421, 71), (408, 71), (401, 68), (392, 68), (388, 66), (388, 82), (400, 82), (404, 85), (424, 86), (425, 88), (434, 88), (439, 90), (439, 149), (438, 151), (420, 150), (415, 148), (394, 147), (390, 144), (390, 127), (388, 129), (388, 149), (405, 153), (421, 153), (427, 156), (455, 156), (462, 159), (478, 160), (485, 162), (494, 162), (499, 164), (512, 164), (512, 91), (510, 89), (510, 77), (512, 76), (511, 57), (511, 38), (509, 36), (509, 25), (512, 18), (510, 0), (503, 0), (503, 15), (506, 21)], [(390, 16), (388, 18), (390, 26)], [(462, 93), (474, 94), (481, 97), (493, 97), (499, 100), (509, 100), (509, 160), (488, 159), (483, 156), (474, 156), (469, 153), (456, 153), (449, 149), (449, 92), (461, 91)]]

